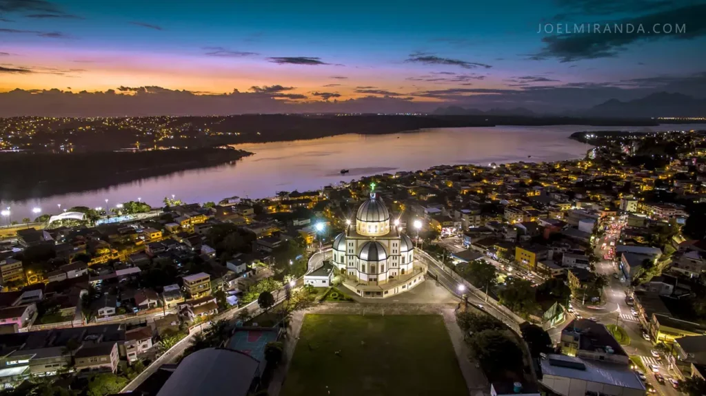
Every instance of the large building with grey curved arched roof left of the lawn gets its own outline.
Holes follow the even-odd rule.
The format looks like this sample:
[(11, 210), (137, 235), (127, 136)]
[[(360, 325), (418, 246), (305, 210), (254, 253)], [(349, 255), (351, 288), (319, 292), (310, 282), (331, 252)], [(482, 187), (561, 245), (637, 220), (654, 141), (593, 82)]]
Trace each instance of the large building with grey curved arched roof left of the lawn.
[(249, 354), (206, 348), (184, 358), (157, 396), (253, 395), (260, 376), (260, 362)]

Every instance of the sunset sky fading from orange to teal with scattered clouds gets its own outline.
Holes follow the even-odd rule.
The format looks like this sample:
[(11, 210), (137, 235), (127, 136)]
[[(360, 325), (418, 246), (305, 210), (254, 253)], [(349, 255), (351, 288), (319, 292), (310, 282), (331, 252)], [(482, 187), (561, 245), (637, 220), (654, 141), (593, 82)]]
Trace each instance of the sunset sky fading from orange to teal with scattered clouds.
[(561, 113), (704, 97), (705, 49), (706, 0), (0, 0), (0, 116)]

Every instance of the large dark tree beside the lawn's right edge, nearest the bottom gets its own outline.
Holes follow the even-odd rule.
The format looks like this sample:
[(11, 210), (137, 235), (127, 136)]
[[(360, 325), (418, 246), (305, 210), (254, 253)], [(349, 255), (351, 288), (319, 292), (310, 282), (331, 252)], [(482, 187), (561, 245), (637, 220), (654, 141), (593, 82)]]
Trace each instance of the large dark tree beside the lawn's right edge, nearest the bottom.
[(469, 344), (489, 376), (522, 367), (522, 349), (499, 330), (483, 330)]

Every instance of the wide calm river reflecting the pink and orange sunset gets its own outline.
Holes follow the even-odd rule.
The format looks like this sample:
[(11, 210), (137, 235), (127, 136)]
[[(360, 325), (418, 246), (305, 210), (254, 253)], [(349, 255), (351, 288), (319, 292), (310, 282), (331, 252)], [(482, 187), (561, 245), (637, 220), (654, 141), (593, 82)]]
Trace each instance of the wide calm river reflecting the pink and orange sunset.
[[(10, 208), (10, 220), (35, 218), (32, 209), (59, 213), (71, 206), (113, 207), (136, 201), (162, 206), (164, 197), (184, 202), (218, 202), (225, 197), (271, 197), (282, 190), (312, 190), (325, 185), (376, 173), (416, 171), (441, 164), (516, 161), (560, 161), (585, 155), (590, 146), (569, 140), (578, 131), (599, 130), (690, 130), (704, 124), (659, 127), (497, 126), (494, 128), (443, 128), (393, 135), (339, 135), (316, 140), (238, 144), (255, 153), (233, 165), (181, 171), (156, 178), (107, 186), (42, 199), (0, 202)], [(531, 156), (531, 158), (528, 158)], [(349, 173), (341, 175), (341, 169)], [(106, 203), (105, 200), (108, 200)], [(61, 205), (61, 206), (59, 206)]]

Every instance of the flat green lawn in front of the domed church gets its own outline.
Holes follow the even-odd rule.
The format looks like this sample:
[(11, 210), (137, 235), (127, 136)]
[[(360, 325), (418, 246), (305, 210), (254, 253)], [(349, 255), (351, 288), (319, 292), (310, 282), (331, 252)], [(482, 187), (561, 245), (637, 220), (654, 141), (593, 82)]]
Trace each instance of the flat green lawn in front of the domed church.
[(281, 395), (453, 396), (468, 390), (441, 316), (306, 315)]

